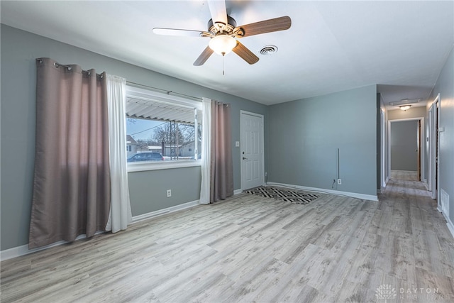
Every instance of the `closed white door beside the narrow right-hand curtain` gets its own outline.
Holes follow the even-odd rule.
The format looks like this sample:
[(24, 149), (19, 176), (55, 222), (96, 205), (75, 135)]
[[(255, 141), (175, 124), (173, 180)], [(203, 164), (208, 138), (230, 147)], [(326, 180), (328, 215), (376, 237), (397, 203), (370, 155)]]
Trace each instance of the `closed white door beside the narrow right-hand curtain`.
[(264, 184), (263, 116), (241, 111), (241, 189)]

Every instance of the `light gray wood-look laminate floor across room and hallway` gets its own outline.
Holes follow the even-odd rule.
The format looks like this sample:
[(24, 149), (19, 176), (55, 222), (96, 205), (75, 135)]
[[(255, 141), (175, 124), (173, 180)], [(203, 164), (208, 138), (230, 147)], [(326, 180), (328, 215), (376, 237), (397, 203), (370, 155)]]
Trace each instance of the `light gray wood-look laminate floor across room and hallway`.
[(453, 302), (453, 285), (453, 236), (408, 180), (380, 202), (240, 194), (1, 263), (2, 303)]

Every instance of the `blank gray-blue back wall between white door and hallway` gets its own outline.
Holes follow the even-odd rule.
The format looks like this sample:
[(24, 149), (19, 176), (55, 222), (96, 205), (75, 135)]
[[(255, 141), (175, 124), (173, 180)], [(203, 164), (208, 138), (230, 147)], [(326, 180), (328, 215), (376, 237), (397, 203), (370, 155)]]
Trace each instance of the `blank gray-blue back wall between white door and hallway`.
[(376, 119), (376, 85), (270, 106), (268, 180), (331, 189), (339, 148), (337, 189), (375, 196)]

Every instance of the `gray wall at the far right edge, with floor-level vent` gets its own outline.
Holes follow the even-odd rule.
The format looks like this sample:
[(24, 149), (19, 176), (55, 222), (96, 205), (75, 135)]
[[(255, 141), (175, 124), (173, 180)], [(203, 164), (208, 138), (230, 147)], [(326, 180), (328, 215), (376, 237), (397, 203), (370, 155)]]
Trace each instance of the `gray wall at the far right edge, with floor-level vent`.
[(454, 50), (451, 50), (429, 100), (441, 98), (440, 188), (449, 195), (450, 221), (454, 224)]

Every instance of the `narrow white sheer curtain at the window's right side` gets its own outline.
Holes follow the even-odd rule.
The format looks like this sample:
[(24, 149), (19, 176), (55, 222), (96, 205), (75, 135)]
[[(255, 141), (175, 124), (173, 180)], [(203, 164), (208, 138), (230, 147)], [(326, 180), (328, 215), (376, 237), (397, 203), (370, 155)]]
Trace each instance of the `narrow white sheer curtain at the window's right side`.
[(211, 162), (211, 99), (202, 100), (202, 135), (201, 135), (201, 186), (200, 204), (210, 203), (210, 162)]

